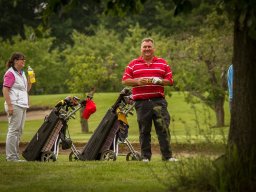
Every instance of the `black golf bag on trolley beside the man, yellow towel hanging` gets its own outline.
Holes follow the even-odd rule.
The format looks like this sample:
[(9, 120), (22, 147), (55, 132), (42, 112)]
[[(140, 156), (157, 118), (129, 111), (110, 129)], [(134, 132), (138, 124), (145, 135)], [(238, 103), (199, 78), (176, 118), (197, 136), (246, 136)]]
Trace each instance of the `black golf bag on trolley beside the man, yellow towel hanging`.
[(130, 89), (123, 89), (115, 104), (107, 111), (83, 150), (72, 150), (69, 160), (112, 160), (119, 155), (119, 145), (125, 144), (129, 152), (126, 160), (141, 160), (140, 153), (135, 151), (128, 137), (128, 114), (132, 114), (135, 103), (131, 99)]

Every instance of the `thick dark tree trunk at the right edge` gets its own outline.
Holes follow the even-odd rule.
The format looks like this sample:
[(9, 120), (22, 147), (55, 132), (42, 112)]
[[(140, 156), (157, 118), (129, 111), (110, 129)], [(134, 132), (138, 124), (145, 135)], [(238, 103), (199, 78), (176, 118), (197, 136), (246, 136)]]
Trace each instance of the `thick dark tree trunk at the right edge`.
[[(235, 18), (234, 25), (234, 91), (227, 153), (236, 167), (232, 170), (231, 166), (234, 174), (229, 183), (230, 191), (256, 191), (256, 40), (248, 35), (247, 15), (243, 23), (239, 19)], [(227, 165), (230, 168), (230, 162)]]

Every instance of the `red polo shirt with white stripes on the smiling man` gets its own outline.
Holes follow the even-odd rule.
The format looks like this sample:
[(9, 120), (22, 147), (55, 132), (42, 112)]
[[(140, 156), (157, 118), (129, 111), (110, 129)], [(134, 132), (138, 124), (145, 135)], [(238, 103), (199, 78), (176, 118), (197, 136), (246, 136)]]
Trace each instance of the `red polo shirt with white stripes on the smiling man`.
[[(164, 59), (155, 56), (148, 65), (142, 57), (138, 57), (128, 64), (122, 80), (153, 77), (169, 80), (170, 84), (173, 84), (172, 70)], [(132, 88), (132, 95), (134, 100), (163, 98), (164, 86), (155, 84), (135, 86)]]

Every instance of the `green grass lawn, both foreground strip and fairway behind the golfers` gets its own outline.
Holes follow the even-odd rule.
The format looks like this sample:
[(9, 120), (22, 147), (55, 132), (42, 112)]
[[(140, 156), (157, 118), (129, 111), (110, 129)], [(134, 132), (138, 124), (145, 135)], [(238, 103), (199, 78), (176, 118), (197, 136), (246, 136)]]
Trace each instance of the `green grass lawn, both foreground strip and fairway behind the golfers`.
[[(60, 99), (67, 95), (47, 95), (31, 96), (31, 106), (49, 106), (52, 108)], [(118, 93), (96, 93), (94, 101), (97, 111), (89, 119), (91, 133), (81, 133), (78, 114), (76, 119), (68, 122), (69, 132), (74, 142), (87, 142), (92, 132), (97, 128), (107, 110), (114, 104)], [(184, 101), (183, 94), (174, 92), (172, 97), (167, 97), (168, 109), (172, 117), (170, 130), (172, 133), (173, 145), (187, 148), (189, 151), (193, 147), (198, 151), (206, 150), (210, 153), (210, 148), (220, 149), (219, 144), (226, 142), (228, 126), (222, 128), (212, 128), (215, 124), (214, 113), (201, 103), (191, 106)], [(3, 98), (0, 97), (3, 104)], [(2, 105), (1, 105), (2, 106)], [(3, 108), (0, 107), (0, 112)], [(225, 104), (226, 125), (229, 124), (228, 105)], [(138, 127), (136, 114), (128, 117), (129, 121), (129, 140), (138, 142)], [(22, 142), (29, 142), (35, 135), (43, 119), (26, 121), (22, 136)], [(0, 142), (5, 142), (7, 122), (0, 121)], [(157, 142), (155, 132), (152, 131), (152, 142)], [(196, 146), (194, 144), (197, 144)], [(209, 146), (209, 147), (208, 147)], [(217, 149), (217, 151), (218, 151)], [(193, 148), (194, 150), (194, 148)], [(175, 153), (175, 151), (174, 151)], [(177, 156), (179, 162), (165, 163), (161, 161), (159, 154), (153, 154), (152, 161), (149, 163), (138, 161), (126, 161), (124, 157), (118, 156), (115, 162), (106, 161), (68, 161), (68, 153), (61, 153), (56, 162), (6, 162), (4, 149), (0, 148), (0, 191), (25, 192), (25, 191), (90, 191), (90, 192), (162, 192), (162, 191), (195, 191), (189, 188), (183, 190), (186, 185), (187, 177), (203, 178), (207, 180), (211, 177), (205, 155), (202, 154), (207, 168), (204, 171), (197, 171), (196, 168), (205, 166), (197, 160), (200, 154), (193, 157)], [(211, 156), (213, 157), (213, 156)], [(190, 174), (192, 176), (190, 176)], [(199, 176), (197, 176), (199, 174)], [(201, 176), (200, 174), (203, 174)], [(178, 184), (177, 179), (182, 184)], [(183, 185), (184, 182), (184, 185)], [(207, 181), (199, 180), (199, 185)], [(170, 189), (173, 187), (172, 189)], [(199, 187), (200, 188), (200, 187)], [(176, 190), (179, 189), (179, 190)]]

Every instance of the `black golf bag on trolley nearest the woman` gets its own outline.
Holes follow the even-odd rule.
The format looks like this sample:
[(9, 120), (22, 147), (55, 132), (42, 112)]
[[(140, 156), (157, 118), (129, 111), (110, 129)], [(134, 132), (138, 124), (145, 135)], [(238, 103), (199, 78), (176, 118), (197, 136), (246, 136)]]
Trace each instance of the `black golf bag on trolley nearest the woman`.
[[(87, 99), (91, 98), (87, 97)], [(56, 161), (60, 145), (64, 150), (71, 148), (76, 152), (69, 133), (67, 136), (66, 132), (68, 132), (68, 120), (75, 118), (74, 114), (86, 105), (86, 100), (79, 101), (80, 99), (74, 96), (66, 97), (57, 103), (22, 152), (22, 156), (27, 161)]]

